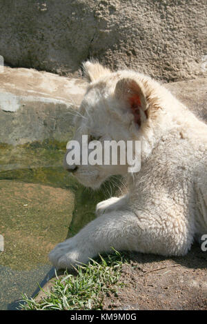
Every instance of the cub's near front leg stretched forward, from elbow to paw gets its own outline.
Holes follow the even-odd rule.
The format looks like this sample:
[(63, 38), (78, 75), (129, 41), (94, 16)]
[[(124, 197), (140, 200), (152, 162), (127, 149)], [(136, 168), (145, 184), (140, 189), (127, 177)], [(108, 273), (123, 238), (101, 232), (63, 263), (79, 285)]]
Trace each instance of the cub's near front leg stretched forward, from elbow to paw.
[(112, 247), (117, 251), (184, 255), (192, 241), (192, 230), (182, 219), (169, 217), (165, 222), (160, 215), (117, 210), (91, 221), (77, 235), (58, 244), (49, 257), (57, 269), (70, 269), (100, 253), (111, 252)]

